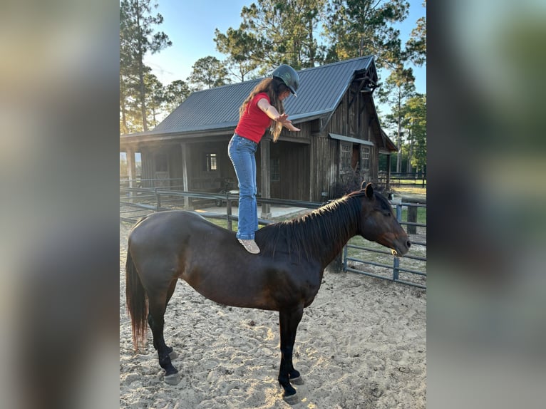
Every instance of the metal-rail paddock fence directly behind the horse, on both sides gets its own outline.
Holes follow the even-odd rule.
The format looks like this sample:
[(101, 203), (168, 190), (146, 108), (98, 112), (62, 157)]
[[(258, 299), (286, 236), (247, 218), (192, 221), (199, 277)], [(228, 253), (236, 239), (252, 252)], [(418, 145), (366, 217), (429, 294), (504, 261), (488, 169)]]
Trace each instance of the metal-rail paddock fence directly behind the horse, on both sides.
[[(237, 194), (176, 190), (180, 188), (179, 182), (120, 180), (120, 220), (135, 223), (152, 212), (183, 209), (197, 212), (207, 219), (223, 220), (227, 229), (233, 231), (233, 222), (237, 226), (238, 219), (237, 214), (232, 213), (233, 206), (239, 200)], [(267, 213), (267, 207), (264, 206), (317, 209), (324, 203), (260, 197), (258, 205)], [(426, 205), (401, 200), (391, 201), (391, 205), (396, 211), (396, 219), (405, 226), (411, 239), (410, 252), (403, 257), (393, 257), (385, 247), (361, 237), (353, 237), (332, 263), (334, 269), (426, 289), (426, 222), (418, 222), (418, 219), (426, 219)], [(258, 222), (264, 226), (273, 221), (259, 218)]]

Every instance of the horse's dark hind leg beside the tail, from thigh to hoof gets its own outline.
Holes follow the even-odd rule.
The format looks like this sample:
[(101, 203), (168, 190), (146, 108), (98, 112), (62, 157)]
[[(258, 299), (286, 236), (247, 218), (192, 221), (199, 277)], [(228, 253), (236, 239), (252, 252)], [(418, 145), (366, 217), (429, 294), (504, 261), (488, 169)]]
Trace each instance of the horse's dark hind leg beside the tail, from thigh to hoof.
[[(172, 295), (172, 292), (170, 293)], [(169, 297), (170, 298), (170, 297)], [(148, 294), (148, 324), (153, 333), (153, 346), (158, 350), (159, 364), (165, 369), (165, 382), (171, 385), (176, 385), (180, 382), (178, 371), (172, 366), (170, 353), (172, 348), (165, 344), (163, 338), (163, 328), (165, 326), (165, 309), (167, 306), (167, 294)]]

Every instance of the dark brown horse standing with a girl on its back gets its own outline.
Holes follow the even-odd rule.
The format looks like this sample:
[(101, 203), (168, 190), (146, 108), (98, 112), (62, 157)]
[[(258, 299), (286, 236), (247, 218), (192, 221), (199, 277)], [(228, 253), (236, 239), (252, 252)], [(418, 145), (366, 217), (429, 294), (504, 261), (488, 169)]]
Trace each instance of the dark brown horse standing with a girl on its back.
[(302, 217), (259, 229), (260, 254), (249, 254), (235, 232), (197, 214), (150, 214), (130, 233), (125, 267), (135, 348), (144, 343), (148, 321), (165, 382), (180, 382), (171, 363), (174, 353), (163, 338), (163, 316), (178, 279), (219, 304), (279, 311), (278, 379), (284, 400), (295, 403), (290, 383), (302, 383), (292, 365), (299, 321), (319, 291), (324, 268), (356, 234), (400, 256), (411, 244), (391, 205), (371, 184)]

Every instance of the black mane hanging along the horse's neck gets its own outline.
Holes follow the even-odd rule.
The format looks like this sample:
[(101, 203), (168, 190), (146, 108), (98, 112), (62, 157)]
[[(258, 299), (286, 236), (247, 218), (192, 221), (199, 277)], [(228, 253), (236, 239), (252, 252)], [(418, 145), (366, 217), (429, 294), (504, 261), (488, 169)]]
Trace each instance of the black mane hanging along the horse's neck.
[(326, 249), (341, 251), (344, 240), (356, 231), (362, 195), (363, 191), (353, 192), (308, 214), (262, 227), (256, 232), (262, 254), (274, 257), (282, 252), (310, 260), (320, 259)]

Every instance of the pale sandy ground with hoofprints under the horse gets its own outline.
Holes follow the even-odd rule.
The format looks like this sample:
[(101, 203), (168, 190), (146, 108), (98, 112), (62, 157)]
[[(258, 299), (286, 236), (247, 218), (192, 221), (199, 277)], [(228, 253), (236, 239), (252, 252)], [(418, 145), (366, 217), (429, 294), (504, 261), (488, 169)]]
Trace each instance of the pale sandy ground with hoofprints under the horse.
[[(120, 223), (120, 408), (289, 408), (277, 383), (278, 313), (215, 304), (179, 281), (165, 338), (182, 380), (163, 382), (152, 346), (135, 353), (125, 309), (130, 225)], [(326, 271), (294, 345), (295, 408), (426, 406), (426, 291)]]

